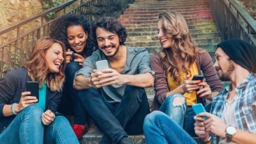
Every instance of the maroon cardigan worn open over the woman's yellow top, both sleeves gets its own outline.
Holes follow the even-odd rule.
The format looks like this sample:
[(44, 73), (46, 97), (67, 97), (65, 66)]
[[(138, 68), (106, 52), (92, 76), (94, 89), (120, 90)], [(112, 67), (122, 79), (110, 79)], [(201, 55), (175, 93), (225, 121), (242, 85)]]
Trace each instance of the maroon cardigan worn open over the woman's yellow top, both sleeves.
[[(196, 67), (198, 68), (198, 74), (201, 74), (201, 70), (204, 74), (207, 84), (211, 87), (212, 92), (221, 92), (223, 87), (221, 81), (216, 76), (212, 58), (207, 51), (204, 49), (196, 48)], [(161, 104), (166, 99), (166, 93), (172, 91), (169, 90), (167, 78), (164, 75), (164, 66), (160, 61), (159, 54), (154, 54), (151, 59), (151, 67), (156, 72), (154, 75), (154, 86), (156, 96), (152, 104), (152, 111), (159, 109)], [(205, 104), (205, 99), (196, 97), (197, 101)]]

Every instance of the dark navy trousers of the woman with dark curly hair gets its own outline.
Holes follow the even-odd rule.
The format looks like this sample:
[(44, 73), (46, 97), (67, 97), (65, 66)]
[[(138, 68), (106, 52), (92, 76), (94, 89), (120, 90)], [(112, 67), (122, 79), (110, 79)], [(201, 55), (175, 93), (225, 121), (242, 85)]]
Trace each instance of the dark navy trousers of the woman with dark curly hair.
[(76, 61), (70, 61), (65, 68), (65, 84), (58, 112), (64, 115), (74, 115), (74, 124), (86, 124), (86, 109), (78, 100), (78, 91), (73, 87), (74, 76), (81, 66)]

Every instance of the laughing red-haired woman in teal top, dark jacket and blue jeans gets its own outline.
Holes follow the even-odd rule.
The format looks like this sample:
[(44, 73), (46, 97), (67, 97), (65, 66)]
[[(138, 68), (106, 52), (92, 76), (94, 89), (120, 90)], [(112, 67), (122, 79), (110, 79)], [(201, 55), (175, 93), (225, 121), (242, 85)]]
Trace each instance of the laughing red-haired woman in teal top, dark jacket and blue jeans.
[[(65, 45), (44, 37), (28, 63), (0, 79), (1, 143), (79, 143), (67, 118), (55, 116), (65, 75)], [(37, 81), (38, 99), (26, 90)]]

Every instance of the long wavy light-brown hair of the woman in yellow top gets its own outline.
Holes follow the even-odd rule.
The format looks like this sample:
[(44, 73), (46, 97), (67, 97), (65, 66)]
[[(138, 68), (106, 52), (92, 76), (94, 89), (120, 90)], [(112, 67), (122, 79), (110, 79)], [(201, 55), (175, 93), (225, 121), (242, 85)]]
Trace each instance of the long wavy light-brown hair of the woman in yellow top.
[[(196, 60), (195, 45), (189, 34), (188, 24), (184, 17), (175, 11), (159, 13), (158, 21), (162, 24), (165, 36), (172, 38), (172, 47), (159, 52), (160, 60), (164, 65), (165, 75), (170, 72), (177, 84), (181, 84), (180, 72), (190, 74), (189, 67)], [(177, 63), (184, 63), (181, 68)], [(185, 65), (188, 63), (188, 65)]]

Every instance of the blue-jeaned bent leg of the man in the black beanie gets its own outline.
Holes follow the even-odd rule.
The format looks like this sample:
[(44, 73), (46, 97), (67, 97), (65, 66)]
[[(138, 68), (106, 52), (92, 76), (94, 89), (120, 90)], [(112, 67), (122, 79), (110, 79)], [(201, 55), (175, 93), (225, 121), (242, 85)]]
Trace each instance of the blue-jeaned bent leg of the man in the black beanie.
[(146, 116), (143, 131), (147, 144), (196, 144), (177, 122), (161, 111), (153, 111)]

